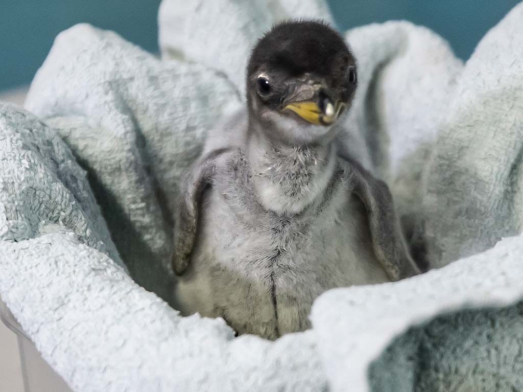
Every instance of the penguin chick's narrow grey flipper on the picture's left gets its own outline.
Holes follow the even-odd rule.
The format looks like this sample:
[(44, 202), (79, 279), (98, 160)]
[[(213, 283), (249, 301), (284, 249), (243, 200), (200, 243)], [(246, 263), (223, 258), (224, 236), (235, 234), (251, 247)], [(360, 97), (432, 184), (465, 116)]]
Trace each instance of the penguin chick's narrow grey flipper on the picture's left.
[(198, 214), (203, 191), (212, 186), (217, 165), (232, 149), (213, 150), (191, 168), (180, 186), (180, 203), (174, 225), (174, 254), (172, 266), (176, 275), (182, 275), (191, 259), (198, 231)]

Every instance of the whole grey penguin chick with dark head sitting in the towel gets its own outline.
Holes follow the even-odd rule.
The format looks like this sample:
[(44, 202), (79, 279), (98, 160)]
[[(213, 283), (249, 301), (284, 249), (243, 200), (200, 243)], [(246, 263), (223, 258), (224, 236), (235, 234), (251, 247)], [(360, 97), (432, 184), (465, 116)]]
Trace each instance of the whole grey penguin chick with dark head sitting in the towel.
[(316, 21), (277, 25), (246, 82), (244, 115), (210, 134), (223, 148), (207, 148), (181, 185), (176, 296), (186, 315), (276, 339), (309, 328), (325, 290), (418, 269), (386, 184), (336, 152), (357, 85), (343, 38)]

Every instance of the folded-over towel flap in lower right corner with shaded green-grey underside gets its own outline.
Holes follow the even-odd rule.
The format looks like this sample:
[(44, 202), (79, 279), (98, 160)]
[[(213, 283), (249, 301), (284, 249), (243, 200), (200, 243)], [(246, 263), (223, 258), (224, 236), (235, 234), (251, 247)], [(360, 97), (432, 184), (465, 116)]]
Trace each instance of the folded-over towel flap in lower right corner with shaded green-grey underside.
[(313, 328), (333, 390), (523, 390), (523, 306), (502, 308), (523, 298), (521, 259), (512, 237), (423, 276), (320, 296)]

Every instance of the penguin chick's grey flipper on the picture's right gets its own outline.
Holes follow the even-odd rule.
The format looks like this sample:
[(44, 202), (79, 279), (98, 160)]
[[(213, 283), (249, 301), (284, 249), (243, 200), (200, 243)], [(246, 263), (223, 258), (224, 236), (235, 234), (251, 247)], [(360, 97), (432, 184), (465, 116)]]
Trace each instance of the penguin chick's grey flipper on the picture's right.
[(392, 281), (420, 273), (407, 247), (389, 186), (357, 161), (344, 158), (353, 193), (367, 210), (374, 253)]

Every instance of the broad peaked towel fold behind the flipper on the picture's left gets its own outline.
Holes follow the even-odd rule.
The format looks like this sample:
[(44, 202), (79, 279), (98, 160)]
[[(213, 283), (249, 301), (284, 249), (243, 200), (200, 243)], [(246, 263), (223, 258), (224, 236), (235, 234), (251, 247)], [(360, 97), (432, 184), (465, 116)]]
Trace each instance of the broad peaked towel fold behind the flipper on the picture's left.
[(199, 156), (207, 130), (239, 105), (218, 72), (161, 62), (87, 25), (56, 38), (26, 99), (88, 170), (131, 275), (165, 299), (180, 175)]

